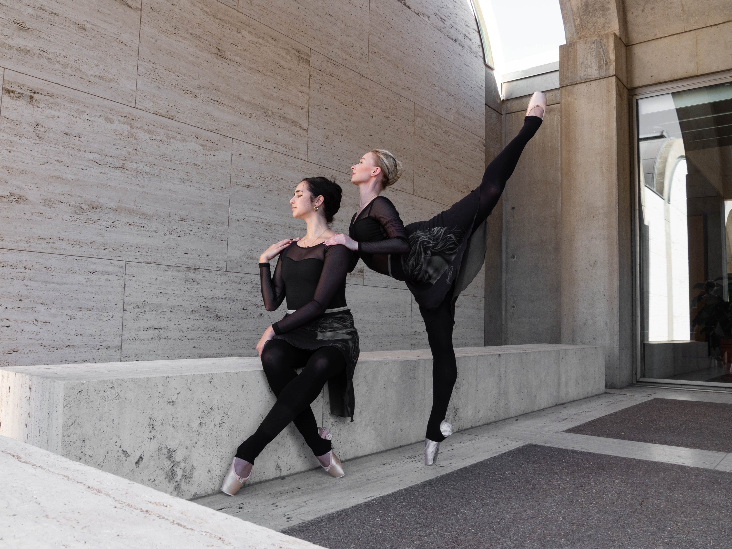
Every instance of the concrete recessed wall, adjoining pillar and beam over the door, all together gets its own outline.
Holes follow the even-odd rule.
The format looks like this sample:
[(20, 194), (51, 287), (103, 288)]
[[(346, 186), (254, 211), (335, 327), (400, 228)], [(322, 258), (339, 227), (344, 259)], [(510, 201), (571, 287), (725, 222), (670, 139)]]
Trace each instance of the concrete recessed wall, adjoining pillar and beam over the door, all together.
[[(488, 222), (485, 341), (603, 346), (619, 387), (635, 379), (630, 95), (732, 69), (732, 3), (560, 4), (560, 87)], [(486, 131), (500, 122), (507, 143), (529, 95), (486, 90)]]

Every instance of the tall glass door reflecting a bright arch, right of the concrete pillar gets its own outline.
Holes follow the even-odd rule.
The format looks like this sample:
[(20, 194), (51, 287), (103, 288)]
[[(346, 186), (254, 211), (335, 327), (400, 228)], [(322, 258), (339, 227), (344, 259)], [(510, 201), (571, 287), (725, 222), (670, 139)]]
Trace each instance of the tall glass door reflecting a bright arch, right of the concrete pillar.
[(732, 386), (732, 83), (637, 113), (641, 379)]

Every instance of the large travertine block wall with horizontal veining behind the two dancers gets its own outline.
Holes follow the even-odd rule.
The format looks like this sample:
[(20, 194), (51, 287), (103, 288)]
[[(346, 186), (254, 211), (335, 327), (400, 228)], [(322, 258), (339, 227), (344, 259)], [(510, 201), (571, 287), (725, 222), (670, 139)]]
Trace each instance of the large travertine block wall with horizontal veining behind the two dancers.
[[(0, 364), (250, 356), (261, 250), (288, 199), (380, 146), (406, 223), (479, 183), (485, 66), (466, 2), (30, 0), (0, 18)], [(496, 135), (491, 133), (491, 140)], [(495, 143), (491, 144), (495, 147)], [(484, 277), (455, 344), (482, 345)], [(401, 283), (362, 264), (364, 350), (427, 346)]]

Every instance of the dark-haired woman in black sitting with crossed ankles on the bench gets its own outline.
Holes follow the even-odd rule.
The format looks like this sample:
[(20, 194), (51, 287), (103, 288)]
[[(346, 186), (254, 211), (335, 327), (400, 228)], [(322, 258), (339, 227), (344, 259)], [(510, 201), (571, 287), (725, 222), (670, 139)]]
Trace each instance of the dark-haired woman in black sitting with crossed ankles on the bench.
[[(321, 466), (343, 477), (330, 434), (315, 422), (310, 404), (329, 385), (332, 414), (354, 417), (354, 367), (359, 336), (346, 305), (346, 274), (353, 253), (345, 246), (324, 245), (335, 233), (329, 223), (340, 207), (340, 186), (324, 177), (304, 179), (291, 198), (292, 217), (307, 223), (302, 239), (285, 239), (259, 258), (266, 310), (277, 310), (285, 297), (287, 314), (264, 330), (257, 351), (275, 406), (255, 433), (245, 438), (231, 462), (221, 491), (234, 496), (249, 478), (255, 458), (294, 422)], [(269, 261), (280, 255), (275, 276)], [(295, 370), (302, 368), (301, 373)]]

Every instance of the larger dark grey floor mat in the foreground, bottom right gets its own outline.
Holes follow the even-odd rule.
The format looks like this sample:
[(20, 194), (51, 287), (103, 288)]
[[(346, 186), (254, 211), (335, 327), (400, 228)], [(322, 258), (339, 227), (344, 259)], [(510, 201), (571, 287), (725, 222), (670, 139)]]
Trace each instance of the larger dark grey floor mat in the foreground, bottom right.
[(732, 474), (528, 445), (285, 531), (331, 549), (728, 548)]

